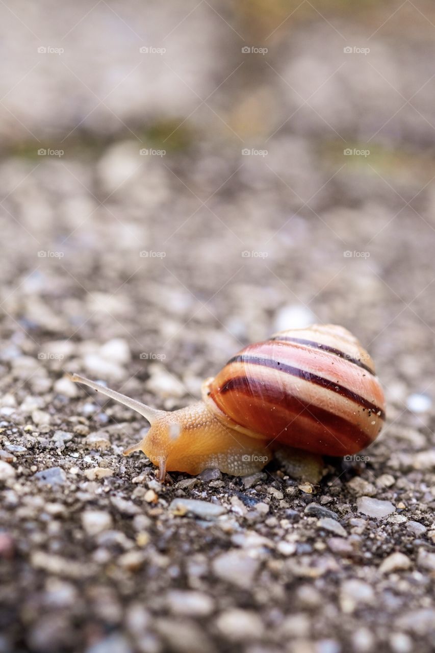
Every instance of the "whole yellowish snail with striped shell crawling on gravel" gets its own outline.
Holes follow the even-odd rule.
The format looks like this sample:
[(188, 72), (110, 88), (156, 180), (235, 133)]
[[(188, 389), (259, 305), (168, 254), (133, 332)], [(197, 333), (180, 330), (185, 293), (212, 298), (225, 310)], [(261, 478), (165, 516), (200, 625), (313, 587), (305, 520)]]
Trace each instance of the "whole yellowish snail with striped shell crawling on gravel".
[(336, 325), (289, 329), (244, 347), (204, 381), (201, 402), (180, 410), (157, 410), (79, 375), (71, 379), (150, 422), (124, 455), (143, 451), (161, 481), (167, 471), (206, 468), (248, 475), (273, 455), (293, 476), (321, 478), (322, 456), (361, 451), (385, 420), (372, 358)]

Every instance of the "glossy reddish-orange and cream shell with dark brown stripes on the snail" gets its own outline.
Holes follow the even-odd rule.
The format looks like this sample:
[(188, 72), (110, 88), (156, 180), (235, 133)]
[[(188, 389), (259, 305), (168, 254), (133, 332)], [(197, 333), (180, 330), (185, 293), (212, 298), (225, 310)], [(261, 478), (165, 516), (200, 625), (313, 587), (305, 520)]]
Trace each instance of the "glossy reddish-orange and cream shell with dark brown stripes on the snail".
[(203, 398), (236, 430), (330, 456), (361, 451), (385, 420), (372, 358), (336, 325), (248, 345), (204, 382)]

